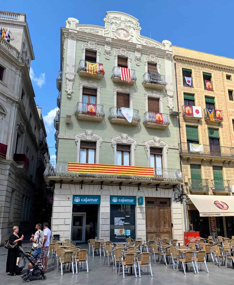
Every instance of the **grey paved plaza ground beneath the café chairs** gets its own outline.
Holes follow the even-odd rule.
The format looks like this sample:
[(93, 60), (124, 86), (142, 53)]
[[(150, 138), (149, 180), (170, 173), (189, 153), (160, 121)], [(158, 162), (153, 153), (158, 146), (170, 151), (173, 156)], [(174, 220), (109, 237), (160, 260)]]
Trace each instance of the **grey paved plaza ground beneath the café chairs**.
[[(23, 247), (25, 250), (30, 249), (31, 244), (23, 243)], [(87, 247), (87, 245), (82, 245), (82, 248)], [(0, 248), (0, 284), (7, 285), (19, 285), (23, 284), (22, 278), (20, 275), (18, 276), (9, 276), (6, 271), (6, 260), (7, 260), (7, 249), (4, 247)], [(108, 268), (108, 265), (103, 266), (104, 257), (95, 256), (94, 258), (90, 255), (88, 256), (89, 263), (89, 273), (86, 271), (79, 270), (78, 274), (72, 274), (72, 272), (64, 273), (61, 276), (59, 271), (56, 274), (56, 271), (53, 270), (51, 266), (51, 259), (48, 261), (48, 272), (46, 273), (47, 279), (42, 281), (41, 277), (31, 277), (30, 281), (26, 284), (49, 284), (49, 285), (163, 285), (163, 284), (173, 284), (173, 285), (181, 285), (181, 284), (189, 284), (189, 285), (216, 285), (216, 284), (225, 284), (225, 285), (233, 285), (233, 274), (234, 270), (232, 268), (225, 269), (224, 266), (219, 268), (217, 265), (213, 266), (212, 262), (208, 262), (208, 269), (210, 271), (209, 274), (206, 271), (199, 272), (199, 275), (195, 275), (194, 272), (187, 272), (186, 276), (184, 276), (183, 272), (173, 271), (169, 266), (165, 266), (165, 264), (152, 263), (152, 271), (153, 277), (145, 274), (141, 274), (141, 278), (137, 275), (137, 278), (133, 275), (125, 275), (125, 279), (123, 279), (122, 272), (120, 271), (120, 276), (112, 272), (112, 267)], [(204, 265), (203, 265), (204, 268)], [(23, 273), (27, 269), (27, 264), (23, 270)]]

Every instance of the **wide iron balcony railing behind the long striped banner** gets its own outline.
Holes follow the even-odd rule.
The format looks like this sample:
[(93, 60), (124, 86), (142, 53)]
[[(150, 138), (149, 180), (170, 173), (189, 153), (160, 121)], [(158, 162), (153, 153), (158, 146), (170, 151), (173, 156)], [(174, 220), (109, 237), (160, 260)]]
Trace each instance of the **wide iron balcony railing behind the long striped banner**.
[(91, 173), (78, 173), (68, 172), (67, 162), (50, 162), (46, 165), (44, 177), (48, 176), (76, 176), (76, 177), (95, 177), (95, 178), (125, 178), (136, 180), (157, 180), (157, 181), (171, 181), (182, 182), (182, 174), (179, 169), (172, 168), (155, 168), (155, 177), (144, 176), (124, 176), (118, 174), (91, 174)]

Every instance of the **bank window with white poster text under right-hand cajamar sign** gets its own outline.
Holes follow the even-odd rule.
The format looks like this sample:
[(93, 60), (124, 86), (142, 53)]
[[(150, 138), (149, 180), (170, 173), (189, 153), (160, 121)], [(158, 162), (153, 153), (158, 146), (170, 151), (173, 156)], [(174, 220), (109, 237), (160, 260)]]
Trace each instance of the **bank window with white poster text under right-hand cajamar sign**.
[(127, 237), (136, 239), (136, 197), (110, 196), (110, 240), (125, 242)]

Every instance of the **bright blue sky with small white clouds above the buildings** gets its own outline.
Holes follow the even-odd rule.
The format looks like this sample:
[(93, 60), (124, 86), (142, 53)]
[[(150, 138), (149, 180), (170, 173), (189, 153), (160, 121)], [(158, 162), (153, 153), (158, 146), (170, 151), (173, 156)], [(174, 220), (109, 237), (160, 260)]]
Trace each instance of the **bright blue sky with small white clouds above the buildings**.
[[(1, 10), (26, 13), (35, 54), (31, 62), (35, 101), (45, 116), (47, 141), (55, 144), (53, 127), (56, 77), (60, 69), (60, 27), (68, 17), (80, 24), (104, 26), (106, 11), (121, 11), (137, 19), (141, 35), (173, 45), (233, 58), (233, 1), (2, 1)], [(52, 161), (55, 148), (50, 148)]]

